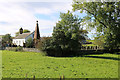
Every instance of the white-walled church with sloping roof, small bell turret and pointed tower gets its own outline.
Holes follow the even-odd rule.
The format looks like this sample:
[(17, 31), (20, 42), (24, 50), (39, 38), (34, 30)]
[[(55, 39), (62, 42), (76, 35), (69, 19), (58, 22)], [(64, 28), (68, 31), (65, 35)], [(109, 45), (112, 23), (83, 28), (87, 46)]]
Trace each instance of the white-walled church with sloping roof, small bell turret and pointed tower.
[(19, 35), (13, 39), (12, 43), (17, 46), (24, 46), (29, 38), (32, 38), (34, 44), (37, 44), (37, 42), (40, 41), (38, 21), (36, 21), (35, 31), (33, 31), (32, 33), (23, 33), (23, 29), (20, 28)]

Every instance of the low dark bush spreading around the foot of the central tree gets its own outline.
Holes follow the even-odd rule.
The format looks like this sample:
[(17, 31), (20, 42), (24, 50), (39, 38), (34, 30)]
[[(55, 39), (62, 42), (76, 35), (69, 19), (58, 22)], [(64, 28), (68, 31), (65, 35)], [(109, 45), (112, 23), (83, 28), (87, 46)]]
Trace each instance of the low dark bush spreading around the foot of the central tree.
[[(80, 45), (80, 44), (79, 44)], [(48, 39), (43, 42), (42, 50), (46, 51), (47, 56), (65, 57), (74, 55), (79, 49), (70, 48), (70, 46), (62, 47), (53, 39)]]

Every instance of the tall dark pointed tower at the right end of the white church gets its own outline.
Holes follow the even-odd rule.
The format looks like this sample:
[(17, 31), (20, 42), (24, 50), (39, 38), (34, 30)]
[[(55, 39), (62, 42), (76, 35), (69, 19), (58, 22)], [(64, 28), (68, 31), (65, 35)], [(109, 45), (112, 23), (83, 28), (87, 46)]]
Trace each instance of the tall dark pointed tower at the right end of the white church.
[(38, 21), (36, 21), (35, 33), (34, 33), (34, 44), (35, 46), (40, 41), (40, 32), (39, 32), (39, 25)]

